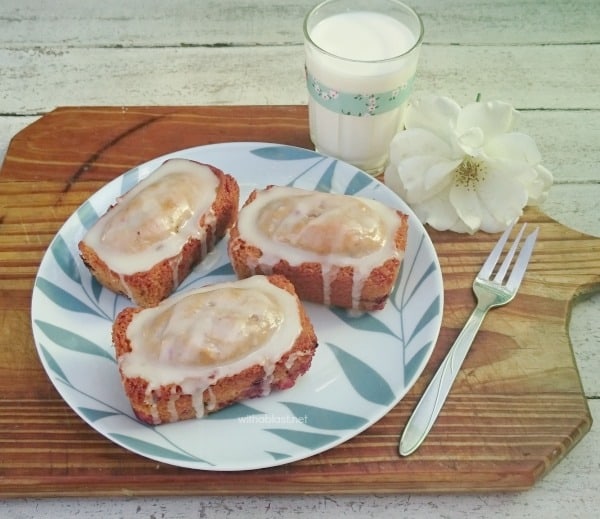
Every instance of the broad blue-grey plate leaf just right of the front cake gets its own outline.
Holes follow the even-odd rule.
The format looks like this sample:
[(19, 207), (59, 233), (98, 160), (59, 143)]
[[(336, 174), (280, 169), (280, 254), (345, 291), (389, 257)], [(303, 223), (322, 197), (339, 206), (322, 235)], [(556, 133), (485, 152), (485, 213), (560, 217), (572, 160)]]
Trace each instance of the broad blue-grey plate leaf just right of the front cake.
[(388, 405), (394, 400), (394, 392), (390, 385), (371, 366), (335, 344), (326, 344), (333, 351), (346, 378), (360, 396), (379, 405)]

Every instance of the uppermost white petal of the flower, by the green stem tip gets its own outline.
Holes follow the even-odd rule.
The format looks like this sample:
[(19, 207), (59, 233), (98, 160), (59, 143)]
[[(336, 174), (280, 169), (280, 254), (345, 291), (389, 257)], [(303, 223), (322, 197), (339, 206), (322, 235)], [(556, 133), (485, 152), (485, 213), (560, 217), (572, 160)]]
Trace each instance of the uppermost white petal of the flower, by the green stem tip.
[(465, 106), (458, 116), (456, 132), (461, 135), (470, 128), (481, 128), (487, 139), (510, 131), (518, 112), (503, 101), (486, 101)]

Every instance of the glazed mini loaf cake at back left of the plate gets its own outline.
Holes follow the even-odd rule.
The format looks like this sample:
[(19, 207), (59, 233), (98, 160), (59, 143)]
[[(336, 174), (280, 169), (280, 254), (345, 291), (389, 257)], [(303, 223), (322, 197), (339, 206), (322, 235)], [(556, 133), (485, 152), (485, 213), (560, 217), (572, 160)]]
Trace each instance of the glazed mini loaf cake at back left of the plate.
[(233, 177), (170, 159), (109, 208), (79, 242), (79, 252), (104, 286), (153, 306), (225, 235), (238, 205)]

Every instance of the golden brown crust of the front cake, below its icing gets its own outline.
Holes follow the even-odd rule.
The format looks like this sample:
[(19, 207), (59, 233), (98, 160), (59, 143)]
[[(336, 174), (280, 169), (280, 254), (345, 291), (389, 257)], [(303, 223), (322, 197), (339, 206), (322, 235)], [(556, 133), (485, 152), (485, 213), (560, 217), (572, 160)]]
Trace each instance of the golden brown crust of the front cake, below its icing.
[[(269, 276), (269, 281), (290, 294), (295, 294), (293, 285), (283, 276)], [(288, 389), (296, 379), (310, 368), (317, 348), (317, 337), (304, 307), (297, 301), (302, 332), (290, 349), (276, 362), (270, 380), (270, 389)], [(117, 359), (131, 351), (127, 328), (133, 316), (141, 308), (129, 307), (115, 319), (112, 338)], [(242, 372), (216, 380), (204, 391), (205, 414), (218, 411), (231, 404), (264, 394), (267, 374), (262, 366), (253, 365)], [(168, 384), (148, 393), (148, 381), (140, 377), (128, 378), (121, 372), (125, 393), (136, 416), (150, 424), (168, 423), (196, 418), (192, 395), (185, 394), (181, 386)], [(173, 413), (175, 409), (175, 415)]]

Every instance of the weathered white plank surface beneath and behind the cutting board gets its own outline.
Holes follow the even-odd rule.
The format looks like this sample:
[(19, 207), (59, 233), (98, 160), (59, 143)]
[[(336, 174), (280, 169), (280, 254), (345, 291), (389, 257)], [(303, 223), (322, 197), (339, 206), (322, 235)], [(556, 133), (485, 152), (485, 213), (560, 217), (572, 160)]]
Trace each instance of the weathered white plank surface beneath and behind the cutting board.
[[(553, 171), (543, 209), (600, 236), (600, 2), (413, 0), (426, 37), (416, 88), (521, 111)], [(312, 0), (5, 0), (0, 160), (10, 138), (64, 105), (300, 104), (302, 18)], [(600, 416), (600, 295), (570, 323)], [(1, 459), (0, 459), (1, 466)], [(10, 500), (0, 516), (596, 517), (597, 426), (532, 490), (502, 495)]]

